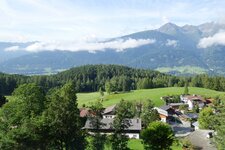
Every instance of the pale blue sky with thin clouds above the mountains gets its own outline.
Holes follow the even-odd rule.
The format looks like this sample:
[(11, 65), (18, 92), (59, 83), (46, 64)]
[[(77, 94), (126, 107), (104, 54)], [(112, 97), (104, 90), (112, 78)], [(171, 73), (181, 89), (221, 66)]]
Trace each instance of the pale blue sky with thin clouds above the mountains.
[(167, 22), (224, 22), (224, 8), (223, 0), (0, 0), (0, 41), (88, 41)]

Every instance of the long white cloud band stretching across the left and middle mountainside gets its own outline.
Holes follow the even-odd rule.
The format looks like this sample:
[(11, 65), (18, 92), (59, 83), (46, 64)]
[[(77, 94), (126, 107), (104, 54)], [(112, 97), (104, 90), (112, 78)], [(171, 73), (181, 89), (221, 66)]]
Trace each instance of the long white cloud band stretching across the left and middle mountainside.
[(54, 51), (54, 50), (68, 50), (68, 51), (104, 51), (105, 49), (115, 49), (116, 51), (123, 51), (128, 48), (135, 48), (142, 45), (153, 44), (155, 39), (117, 39), (109, 42), (36, 42), (25, 48), (29, 52), (38, 51)]

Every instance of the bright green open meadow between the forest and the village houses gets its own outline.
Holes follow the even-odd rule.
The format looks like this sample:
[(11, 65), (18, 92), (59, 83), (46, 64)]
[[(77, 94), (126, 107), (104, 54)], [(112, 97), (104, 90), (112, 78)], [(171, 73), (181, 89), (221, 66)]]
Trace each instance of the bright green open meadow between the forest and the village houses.
[[(156, 106), (161, 106), (164, 102), (160, 99), (161, 96), (172, 95), (172, 94), (182, 94), (184, 91), (183, 87), (169, 87), (169, 88), (156, 88), (156, 89), (145, 89), (145, 90), (134, 90), (127, 93), (110, 94), (105, 93), (103, 105), (110, 106), (118, 103), (121, 99), (128, 101), (144, 101), (146, 99), (151, 99)], [(190, 94), (199, 94), (206, 97), (215, 97), (225, 95), (225, 92), (218, 92), (214, 90), (189, 87)], [(91, 102), (95, 102), (100, 99), (99, 92), (93, 93), (78, 93), (78, 104), (81, 107), (83, 104), (89, 105)]]

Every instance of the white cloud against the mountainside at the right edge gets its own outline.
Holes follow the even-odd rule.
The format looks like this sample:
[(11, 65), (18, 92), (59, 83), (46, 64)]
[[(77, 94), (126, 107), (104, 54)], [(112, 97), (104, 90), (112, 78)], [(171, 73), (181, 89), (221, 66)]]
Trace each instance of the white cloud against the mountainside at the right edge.
[(217, 45), (225, 46), (225, 31), (221, 31), (210, 37), (202, 38), (198, 43), (199, 48), (207, 48)]

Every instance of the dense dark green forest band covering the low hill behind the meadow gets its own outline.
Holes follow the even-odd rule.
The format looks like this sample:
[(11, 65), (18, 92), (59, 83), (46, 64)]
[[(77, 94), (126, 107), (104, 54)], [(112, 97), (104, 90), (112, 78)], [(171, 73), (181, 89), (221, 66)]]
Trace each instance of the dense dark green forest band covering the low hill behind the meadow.
[(203, 87), (217, 91), (225, 91), (225, 77), (197, 75), (179, 77), (158, 71), (134, 69), (119, 65), (86, 65), (75, 67), (55, 75), (9, 75), (0, 73), (0, 93), (10, 95), (15, 88), (24, 83), (35, 83), (45, 91), (62, 87), (68, 81), (76, 82), (77, 92), (130, 91), (160, 87)]

